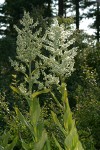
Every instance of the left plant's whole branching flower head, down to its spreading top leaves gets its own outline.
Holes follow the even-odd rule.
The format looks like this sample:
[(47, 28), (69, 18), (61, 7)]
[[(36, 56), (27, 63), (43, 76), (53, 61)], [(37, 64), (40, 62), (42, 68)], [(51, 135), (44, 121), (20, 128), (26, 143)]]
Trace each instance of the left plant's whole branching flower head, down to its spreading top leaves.
[[(18, 32), (16, 60), (13, 61), (10, 59), (10, 62), (15, 71), (23, 74), (24, 81), (19, 83), (17, 87), (11, 85), (11, 88), (23, 95), (30, 105), (31, 99), (42, 92), (49, 91), (47, 89), (40, 91), (44, 88), (43, 83), (39, 81), (40, 70), (43, 68), (40, 58), (43, 37), (41, 37), (42, 29), (38, 29), (38, 21), (33, 23), (33, 19), (30, 18), (29, 13), (24, 13), (24, 17), (20, 23), (22, 26), (21, 29), (15, 26)], [(13, 77), (16, 78), (16, 75), (13, 75)], [(34, 90), (34, 86), (37, 86), (37, 90)]]

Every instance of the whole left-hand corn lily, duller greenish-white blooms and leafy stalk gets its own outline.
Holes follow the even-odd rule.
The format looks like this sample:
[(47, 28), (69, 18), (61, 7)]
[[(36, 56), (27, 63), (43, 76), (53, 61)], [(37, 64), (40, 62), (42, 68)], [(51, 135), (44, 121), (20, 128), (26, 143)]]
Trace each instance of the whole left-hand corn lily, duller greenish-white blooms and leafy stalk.
[[(22, 147), (25, 150), (50, 150), (47, 132), (44, 129), (43, 121), (40, 119), (41, 108), (39, 99), (37, 98), (38, 95), (50, 91), (46, 88), (43, 89), (42, 83), (38, 80), (40, 77), (40, 69), (42, 67), (39, 60), (42, 48), (42, 38), (40, 36), (41, 28), (38, 29), (38, 22), (33, 24), (33, 19), (31, 19), (29, 13), (26, 12), (20, 23), (22, 29), (15, 27), (18, 32), (17, 59), (16, 61), (10, 59), (10, 62), (17, 72), (23, 74), (24, 82), (17, 86), (16, 75), (13, 75), (13, 81), (15, 82), (11, 85), (11, 88), (14, 92), (24, 96), (28, 102), (28, 119), (24, 117), (17, 107), (15, 107), (15, 111), (19, 122), (29, 130), (32, 138), (30, 142), (27, 142), (19, 133), (20, 140)], [(35, 30), (34, 34), (32, 30)], [(38, 90), (33, 90), (34, 85), (38, 85)]]

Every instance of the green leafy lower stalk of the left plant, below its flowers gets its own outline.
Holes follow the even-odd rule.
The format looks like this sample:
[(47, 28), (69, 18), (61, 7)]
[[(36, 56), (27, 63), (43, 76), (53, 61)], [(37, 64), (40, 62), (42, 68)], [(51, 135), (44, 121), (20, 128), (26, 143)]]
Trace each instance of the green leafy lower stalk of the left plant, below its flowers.
[(41, 108), (39, 105), (39, 100), (35, 98), (31, 102), (29, 120), (22, 115), (18, 108), (15, 108), (15, 111), (19, 121), (21, 122), (21, 125), (27, 127), (32, 138), (27, 142), (20, 135), (22, 147), (25, 150), (50, 149), (47, 132), (44, 129), (43, 120), (40, 119)]

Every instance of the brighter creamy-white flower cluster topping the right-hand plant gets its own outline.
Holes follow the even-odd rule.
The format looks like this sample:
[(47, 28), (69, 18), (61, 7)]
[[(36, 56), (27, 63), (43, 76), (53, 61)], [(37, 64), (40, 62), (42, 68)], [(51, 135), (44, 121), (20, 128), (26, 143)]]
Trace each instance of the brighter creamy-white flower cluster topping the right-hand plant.
[(50, 55), (42, 58), (51, 73), (60, 80), (65, 80), (74, 71), (74, 57), (77, 54), (77, 48), (73, 47), (75, 39), (70, 39), (72, 34), (73, 31), (66, 30), (64, 25), (59, 25), (57, 19), (54, 19), (54, 23), (46, 31), (44, 48)]

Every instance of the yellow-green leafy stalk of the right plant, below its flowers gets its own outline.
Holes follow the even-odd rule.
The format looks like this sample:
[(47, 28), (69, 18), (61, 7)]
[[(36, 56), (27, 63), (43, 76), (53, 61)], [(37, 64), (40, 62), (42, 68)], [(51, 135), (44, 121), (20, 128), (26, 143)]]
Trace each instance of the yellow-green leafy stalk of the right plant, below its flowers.
[[(66, 90), (66, 84), (62, 83), (60, 92), (62, 94), (62, 102), (63, 102), (63, 125), (60, 123), (60, 121), (57, 118), (57, 115), (52, 112), (53, 120), (55, 124), (60, 128), (62, 133), (64, 134), (64, 149), (65, 150), (83, 150), (82, 144), (79, 140), (79, 136), (77, 133), (77, 129), (75, 126), (75, 121), (72, 118), (72, 112), (70, 110), (69, 102), (68, 102), (68, 96), (67, 96), (67, 90)], [(53, 139), (55, 141), (56, 146), (59, 148), (59, 150), (62, 150), (59, 141), (57, 141), (56, 137), (53, 135)]]

